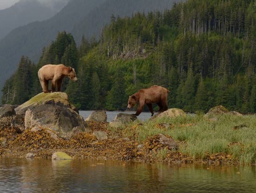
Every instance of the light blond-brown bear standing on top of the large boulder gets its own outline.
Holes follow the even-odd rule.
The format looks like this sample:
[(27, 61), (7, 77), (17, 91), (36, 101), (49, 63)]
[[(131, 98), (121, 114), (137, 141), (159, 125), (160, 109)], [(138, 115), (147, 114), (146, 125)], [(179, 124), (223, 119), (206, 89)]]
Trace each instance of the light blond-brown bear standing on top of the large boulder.
[(61, 91), (61, 83), (64, 77), (67, 76), (69, 79), (73, 81), (77, 81), (76, 73), (74, 68), (65, 67), (63, 64), (53, 65), (47, 64), (41, 67), (38, 71), (38, 78), (40, 80), (40, 84), (42, 86), (44, 93), (49, 93), (48, 90), (48, 81), (52, 80), (52, 92)]

